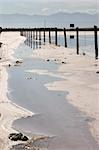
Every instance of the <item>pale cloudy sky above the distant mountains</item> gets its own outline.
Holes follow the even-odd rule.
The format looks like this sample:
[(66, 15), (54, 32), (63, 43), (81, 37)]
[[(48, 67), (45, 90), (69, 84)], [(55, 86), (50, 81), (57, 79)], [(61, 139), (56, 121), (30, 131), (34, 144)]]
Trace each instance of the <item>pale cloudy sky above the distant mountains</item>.
[(0, 0), (0, 14), (99, 13), (99, 0)]

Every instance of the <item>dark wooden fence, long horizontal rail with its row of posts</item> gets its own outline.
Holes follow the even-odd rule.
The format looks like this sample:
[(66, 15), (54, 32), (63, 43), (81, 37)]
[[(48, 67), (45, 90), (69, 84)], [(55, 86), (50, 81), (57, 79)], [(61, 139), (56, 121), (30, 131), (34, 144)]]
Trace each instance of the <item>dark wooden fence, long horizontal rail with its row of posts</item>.
[(76, 53), (79, 55), (79, 49), (80, 49), (80, 42), (79, 42), (79, 37), (80, 37), (80, 32), (90, 32), (92, 31), (94, 33), (94, 52), (95, 52), (95, 59), (98, 59), (98, 31), (99, 28), (97, 26), (94, 26), (93, 28), (0, 28), (0, 32), (20, 32), (21, 36), (27, 36), (27, 32), (29, 37), (33, 36), (33, 39), (35, 40), (41, 40), (42, 39), (42, 34), (43, 33), (43, 40), (44, 42), (46, 41), (46, 33), (49, 38), (49, 43), (51, 44), (52, 39), (51, 39), (51, 33), (54, 32), (55, 34), (55, 45), (58, 45), (58, 33), (63, 32), (64, 36), (64, 46), (68, 47), (68, 42), (67, 42), (67, 33), (68, 32), (75, 32), (76, 33)]

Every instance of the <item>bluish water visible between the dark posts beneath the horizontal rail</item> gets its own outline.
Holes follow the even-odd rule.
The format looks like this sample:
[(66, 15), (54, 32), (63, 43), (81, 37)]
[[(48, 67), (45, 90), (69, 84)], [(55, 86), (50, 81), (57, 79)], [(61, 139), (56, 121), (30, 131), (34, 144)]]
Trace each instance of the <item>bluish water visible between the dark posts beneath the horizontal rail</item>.
[[(74, 35), (74, 38), (71, 39), (70, 36)], [(95, 41), (94, 41), (94, 32), (88, 34), (88, 32), (79, 32), (79, 53), (85, 53), (88, 56), (95, 57)], [(46, 35), (46, 43), (49, 43), (49, 36)], [(55, 33), (51, 33), (51, 43), (55, 44)], [(58, 32), (57, 43), (60, 46), (64, 46), (64, 35)], [(41, 48), (44, 43), (43, 36), (41, 36), (41, 40), (35, 41), (33, 40), (33, 36), (28, 36), (26, 40), (26, 44), (33, 49)], [(99, 45), (99, 33), (98, 33), (98, 45)], [(67, 35), (67, 47), (75, 49), (76, 53), (76, 33), (69, 33)]]

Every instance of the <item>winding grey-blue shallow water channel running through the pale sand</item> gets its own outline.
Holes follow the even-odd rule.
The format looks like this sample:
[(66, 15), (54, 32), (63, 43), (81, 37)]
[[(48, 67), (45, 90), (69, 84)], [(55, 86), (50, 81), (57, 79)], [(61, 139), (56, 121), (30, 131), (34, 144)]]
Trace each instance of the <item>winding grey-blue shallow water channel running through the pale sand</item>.
[(68, 92), (52, 92), (44, 86), (62, 78), (25, 72), (42, 69), (58, 74), (58, 64), (29, 58), (31, 53), (32, 49), (21, 44), (14, 56), (22, 58), (23, 63), (8, 68), (10, 99), (35, 113), (33, 117), (16, 120), (13, 128), (27, 135), (53, 137), (48, 144), (49, 150), (98, 150), (99, 145), (91, 136), (88, 126), (88, 120), (92, 121), (92, 118), (68, 103), (65, 99)]

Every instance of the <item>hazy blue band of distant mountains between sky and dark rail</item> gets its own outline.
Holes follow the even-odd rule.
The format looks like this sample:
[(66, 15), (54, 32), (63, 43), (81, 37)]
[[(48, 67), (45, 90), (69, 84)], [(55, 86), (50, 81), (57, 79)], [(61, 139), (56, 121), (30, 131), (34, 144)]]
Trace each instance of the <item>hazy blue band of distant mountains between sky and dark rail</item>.
[(1, 27), (93, 27), (99, 25), (99, 13), (64, 13), (52, 15), (0, 14)]

